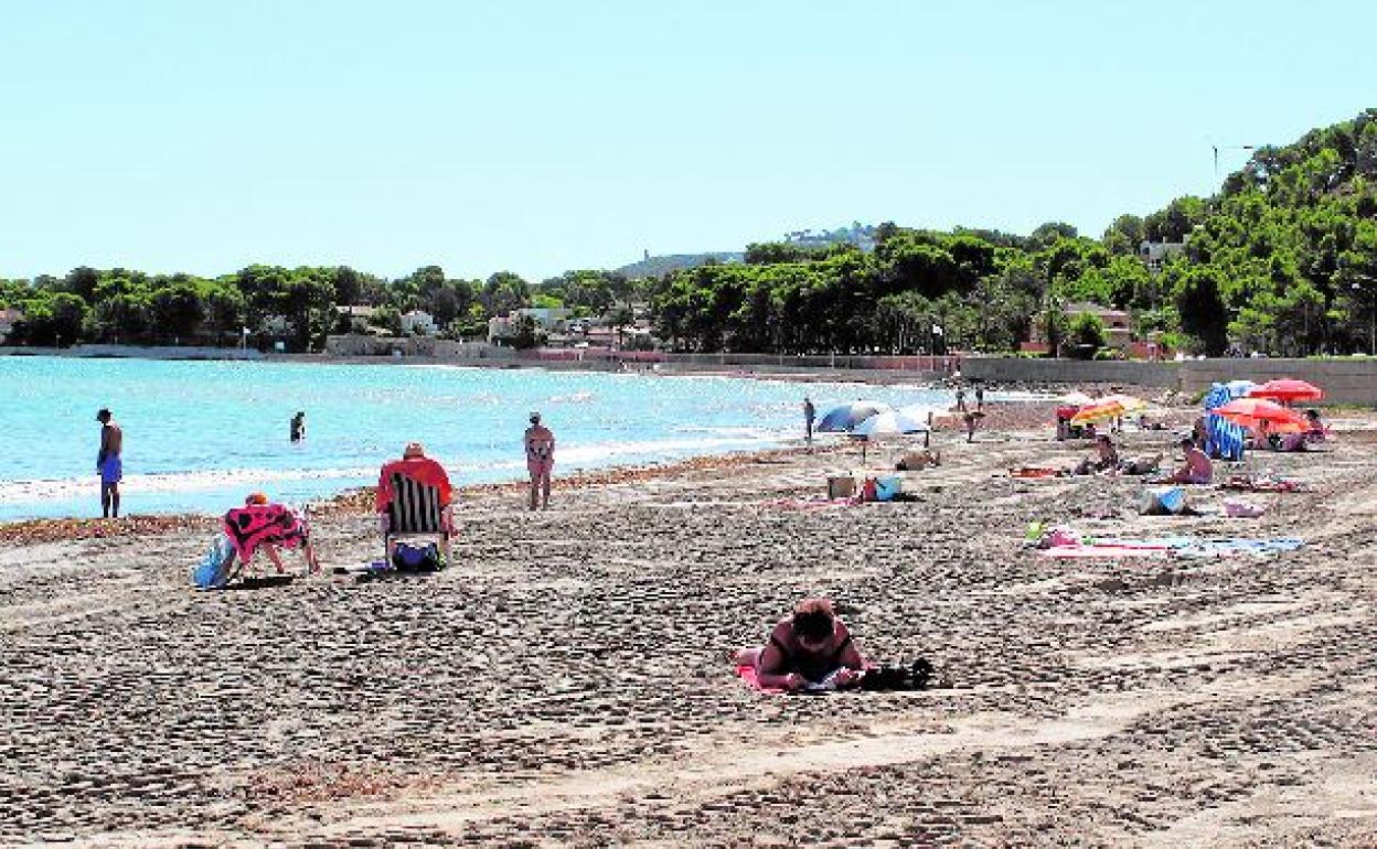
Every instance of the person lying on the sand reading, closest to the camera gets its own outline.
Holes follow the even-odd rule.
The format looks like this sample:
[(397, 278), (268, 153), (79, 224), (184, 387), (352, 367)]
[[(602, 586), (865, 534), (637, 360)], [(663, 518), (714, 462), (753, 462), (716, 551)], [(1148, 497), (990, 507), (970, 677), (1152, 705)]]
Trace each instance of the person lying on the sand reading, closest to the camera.
[(739, 649), (731, 659), (753, 665), (763, 687), (789, 691), (854, 687), (866, 666), (829, 599), (804, 599), (775, 625), (764, 648)]

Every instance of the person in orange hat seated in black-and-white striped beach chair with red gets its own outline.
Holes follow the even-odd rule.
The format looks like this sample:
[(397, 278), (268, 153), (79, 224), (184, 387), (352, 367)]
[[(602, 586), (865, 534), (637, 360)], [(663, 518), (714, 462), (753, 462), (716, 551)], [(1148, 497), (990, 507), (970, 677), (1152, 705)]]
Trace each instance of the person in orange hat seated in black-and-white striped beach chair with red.
[(452, 497), (445, 466), (427, 457), (425, 447), (419, 442), (408, 444), (401, 460), (383, 466), (377, 477), (376, 506), (388, 563), (392, 563), (397, 541), (402, 537), (438, 537), (445, 566), (452, 563)]

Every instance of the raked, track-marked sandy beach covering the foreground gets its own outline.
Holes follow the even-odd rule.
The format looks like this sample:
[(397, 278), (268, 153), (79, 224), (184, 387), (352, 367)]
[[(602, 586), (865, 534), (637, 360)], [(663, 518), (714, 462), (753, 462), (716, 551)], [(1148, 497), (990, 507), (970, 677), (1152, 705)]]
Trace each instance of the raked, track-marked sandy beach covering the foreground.
[[(1089, 451), (1038, 418), (936, 435), (906, 502), (811, 505), (850, 446), (468, 490), (428, 577), (197, 593), (209, 520), (6, 527), (0, 843), (1377, 843), (1371, 416), (1228, 466), (1311, 484), (1259, 519), (1011, 479)], [(366, 506), (317, 513), (326, 567), (380, 555)], [(1030, 522), (1305, 545), (1056, 560)], [(727, 651), (808, 594), (938, 687), (748, 689)]]

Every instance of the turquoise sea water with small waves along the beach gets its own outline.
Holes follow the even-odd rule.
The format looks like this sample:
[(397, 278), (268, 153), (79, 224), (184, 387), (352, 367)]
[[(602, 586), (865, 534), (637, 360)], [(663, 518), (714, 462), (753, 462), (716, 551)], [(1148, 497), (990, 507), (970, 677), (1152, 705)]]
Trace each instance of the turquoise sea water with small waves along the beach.
[[(728, 377), (0, 356), (0, 520), (99, 515), (102, 406), (125, 432), (125, 513), (218, 513), (259, 488), (306, 501), (370, 486), (413, 439), (457, 484), (525, 477), (532, 410), (558, 439), (556, 476), (788, 444), (801, 436), (804, 394), (819, 416), (856, 398), (952, 399)], [(292, 444), (296, 410), (307, 440)]]

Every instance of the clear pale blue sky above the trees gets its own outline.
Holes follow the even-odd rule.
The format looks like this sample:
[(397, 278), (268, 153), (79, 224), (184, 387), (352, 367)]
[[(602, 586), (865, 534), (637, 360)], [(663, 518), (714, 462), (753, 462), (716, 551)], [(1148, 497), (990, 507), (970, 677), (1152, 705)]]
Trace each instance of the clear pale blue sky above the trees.
[[(1377, 106), (1366, 1), (4, 0), (0, 277), (1099, 235)], [(1221, 176), (1246, 153), (1221, 153)]]

